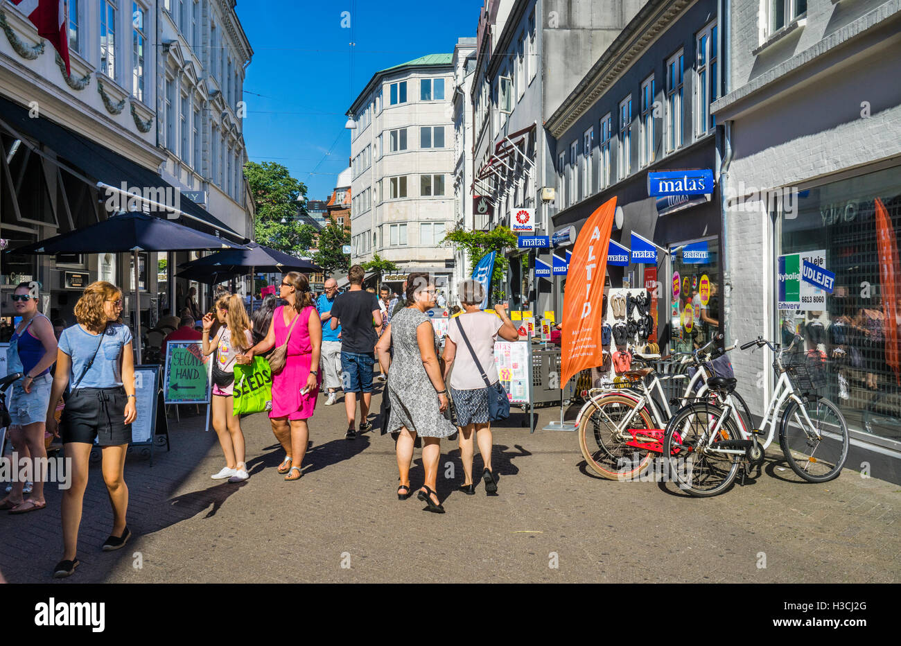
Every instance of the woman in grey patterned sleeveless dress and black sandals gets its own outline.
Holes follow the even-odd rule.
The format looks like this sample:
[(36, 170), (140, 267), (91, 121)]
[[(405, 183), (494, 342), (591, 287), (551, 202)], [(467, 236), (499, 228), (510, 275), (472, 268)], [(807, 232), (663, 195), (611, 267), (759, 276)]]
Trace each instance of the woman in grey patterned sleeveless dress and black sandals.
[[(397, 497), (405, 500), (410, 496), (410, 462), (418, 434), (423, 438), (425, 484), (417, 497), (428, 505), (428, 511), (443, 514), (444, 507), (435, 493), (441, 438), (451, 436), (457, 429), (448, 411), (447, 388), (435, 352), (434, 328), (425, 314), (435, 302), (435, 287), (428, 274), (410, 274), (406, 302), (407, 306), (391, 317), (377, 346), (379, 362), (388, 375), (386, 388), (391, 412), (387, 431), (400, 430), (396, 445), (400, 472)], [(392, 345), (393, 359), (388, 353)]]

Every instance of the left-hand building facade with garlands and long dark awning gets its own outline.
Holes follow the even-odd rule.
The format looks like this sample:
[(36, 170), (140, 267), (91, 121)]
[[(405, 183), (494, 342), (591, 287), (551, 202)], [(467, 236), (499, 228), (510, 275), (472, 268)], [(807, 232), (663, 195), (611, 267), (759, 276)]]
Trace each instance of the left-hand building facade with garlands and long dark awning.
[[(175, 4), (67, 0), (64, 5), (68, 11), (69, 74), (59, 53), (38, 36), (20, 7), (0, 5), (4, 32), (0, 35), (0, 140), (4, 150), (0, 156), (0, 237), (4, 246), (15, 249), (105, 220), (127, 210), (130, 191), (145, 198), (139, 202), (140, 210), (172, 207), (174, 211), (164, 216), (230, 240), (244, 240), (250, 229), (242, 180), (235, 176), (232, 181), (231, 210), (216, 202), (215, 191), (207, 186), (213, 168), (210, 152), (223, 148), (215, 148), (208, 137), (209, 124), (218, 120), (220, 113), (215, 112), (218, 108), (205, 87), (197, 87), (204, 75), (196, 64), (187, 62), (177, 69), (176, 76), (169, 74), (173, 60), (186, 59), (187, 51), (183, 42), (187, 36), (173, 29)], [(187, 22), (197, 17), (186, 32), (190, 38), (204, 32), (204, 21), (219, 20), (212, 17), (215, 12), (225, 16), (222, 20), (226, 22), (232, 20), (232, 26), (237, 23), (230, 2), (201, 0), (193, 5), (178, 3), (177, 7)], [(236, 29), (240, 31), (240, 26)], [(248, 57), (241, 58), (243, 66), (250, 52), (246, 39), (238, 47), (248, 52)], [(236, 59), (232, 58), (230, 70), (227, 62), (224, 64), (232, 76)], [(238, 72), (242, 77), (243, 69)], [(183, 85), (186, 77), (193, 77), (196, 85)], [(172, 85), (173, 80), (177, 85)], [(232, 95), (240, 92), (238, 87), (232, 89)], [(186, 99), (190, 111), (181, 109)], [(201, 111), (199, 121), (192, 114), (197, 109)], [(187, 120), (187, 125), (179, 123), (182, 120)], [(196, 127), (201, 132), (192, 134)], [(187, 144), (182, 143), (183, 137)], [(224, 150), (228, 150), (227, 144)], [(237, 164), (242, 161), (232, 160), (232, 170)], [(220, 168), (228, 168), (228, 159), (223, 158)], [(240, 190), (236, 189), (239, 183)], [(227, 190), (227, 177), (213, 185)], [(212, 197), (202, 198), (203, 194)], [(166, 208), (151, 205), (147, 198)], [(210, 214), (207, 207), (229, 223)], [(166, 254), (141, 252), (141, 296), (140, 303), (134, 303), (130, 254), (5, 254), (0, 258), (0, 316), (10, 314), (7, 290), (20, 280), (37, 280), (41, 283), (41, 311), (51, 319), (71, 323), (81, 289), (93, 280), (105, 279), (123, 288), (125, 313), (132, 324), (140, 312), (147, 329), (163, 309), (175, 312), (180, 305), (168, 273), (158, 273), (159, 259), (167, 259)], [(188, 259), (187, 254), (183, 259)], [(169, 256), (164, 271), (176, 263), (177, 259)], [(187, 294), (185, 287), (180, 296)]]

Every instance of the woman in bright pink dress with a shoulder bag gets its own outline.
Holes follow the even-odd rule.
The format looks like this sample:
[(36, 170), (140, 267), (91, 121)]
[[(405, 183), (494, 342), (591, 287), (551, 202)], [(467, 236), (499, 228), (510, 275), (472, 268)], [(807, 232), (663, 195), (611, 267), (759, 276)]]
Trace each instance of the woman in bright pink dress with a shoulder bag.
[(277, 307), (266, 338), (244, 353), (241, 363), (249, 363), (256, 354), (280, 347), (287, 340), (287, 361), (278, 375), (272, 375), (272, 432), (285, 449), (285, 459), (278, 473), (286, 480), (299, 480), (304, 461), (309, 429), (306, 421), (313, 416), (322, 376), (319, 374), (319, 352), (323, 326), (310, 296), (310, 283), (304, 274), (291, 271), (282, 278), (278, 296), (287, 305)]

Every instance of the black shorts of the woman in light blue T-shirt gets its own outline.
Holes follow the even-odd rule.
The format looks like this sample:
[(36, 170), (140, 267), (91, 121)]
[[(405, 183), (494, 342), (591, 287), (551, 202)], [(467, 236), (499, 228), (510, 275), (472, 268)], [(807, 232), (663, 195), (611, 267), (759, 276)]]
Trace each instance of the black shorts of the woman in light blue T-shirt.
[(59, 422), (63, 444), (84, 442), (119, 446), (132, 441), (132, 424), (126, 424), (128, 396), (123, 387), (78, 388), (66, 397)]

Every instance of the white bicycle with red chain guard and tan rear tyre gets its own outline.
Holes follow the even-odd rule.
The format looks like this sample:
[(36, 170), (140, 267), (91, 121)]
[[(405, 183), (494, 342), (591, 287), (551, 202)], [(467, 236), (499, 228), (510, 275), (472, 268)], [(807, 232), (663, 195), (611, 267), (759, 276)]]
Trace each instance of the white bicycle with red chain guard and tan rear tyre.
[[(660, 375), (654, 368), (638, 368), (623, 373), (629, 382), (627, 387), (589, 390), (587, 402), (576, 418), (579, 449), (587, 466), (597, 475), (611, 480), (634, 478), (642, 473), (652, 454), (662, 452), (664, 429), (682, 401), (714, 396), (708, 386), (709, 380), (714, 378), (710, 362), (735, 347), (733, 344), (729, 348), (710, 350), (714, 342), (722, 340), (723, 335), (719, 334), (690, 354), (674, 354), (662, 359), (657, 355), (634, 355), (645, 361), (672, 359), (683, 368), (694, 365), (696, 372), (691, 378), (685, 374)], [(647, 378), (651, 378), (650, 382)], [(681, 398), (668, 401), (663, 382), (685, 379), (688, 383)], [(738, 419), (750, 432), (748, 405), (738, 393), (730, 393), (727, 397), (742, 412)]]

